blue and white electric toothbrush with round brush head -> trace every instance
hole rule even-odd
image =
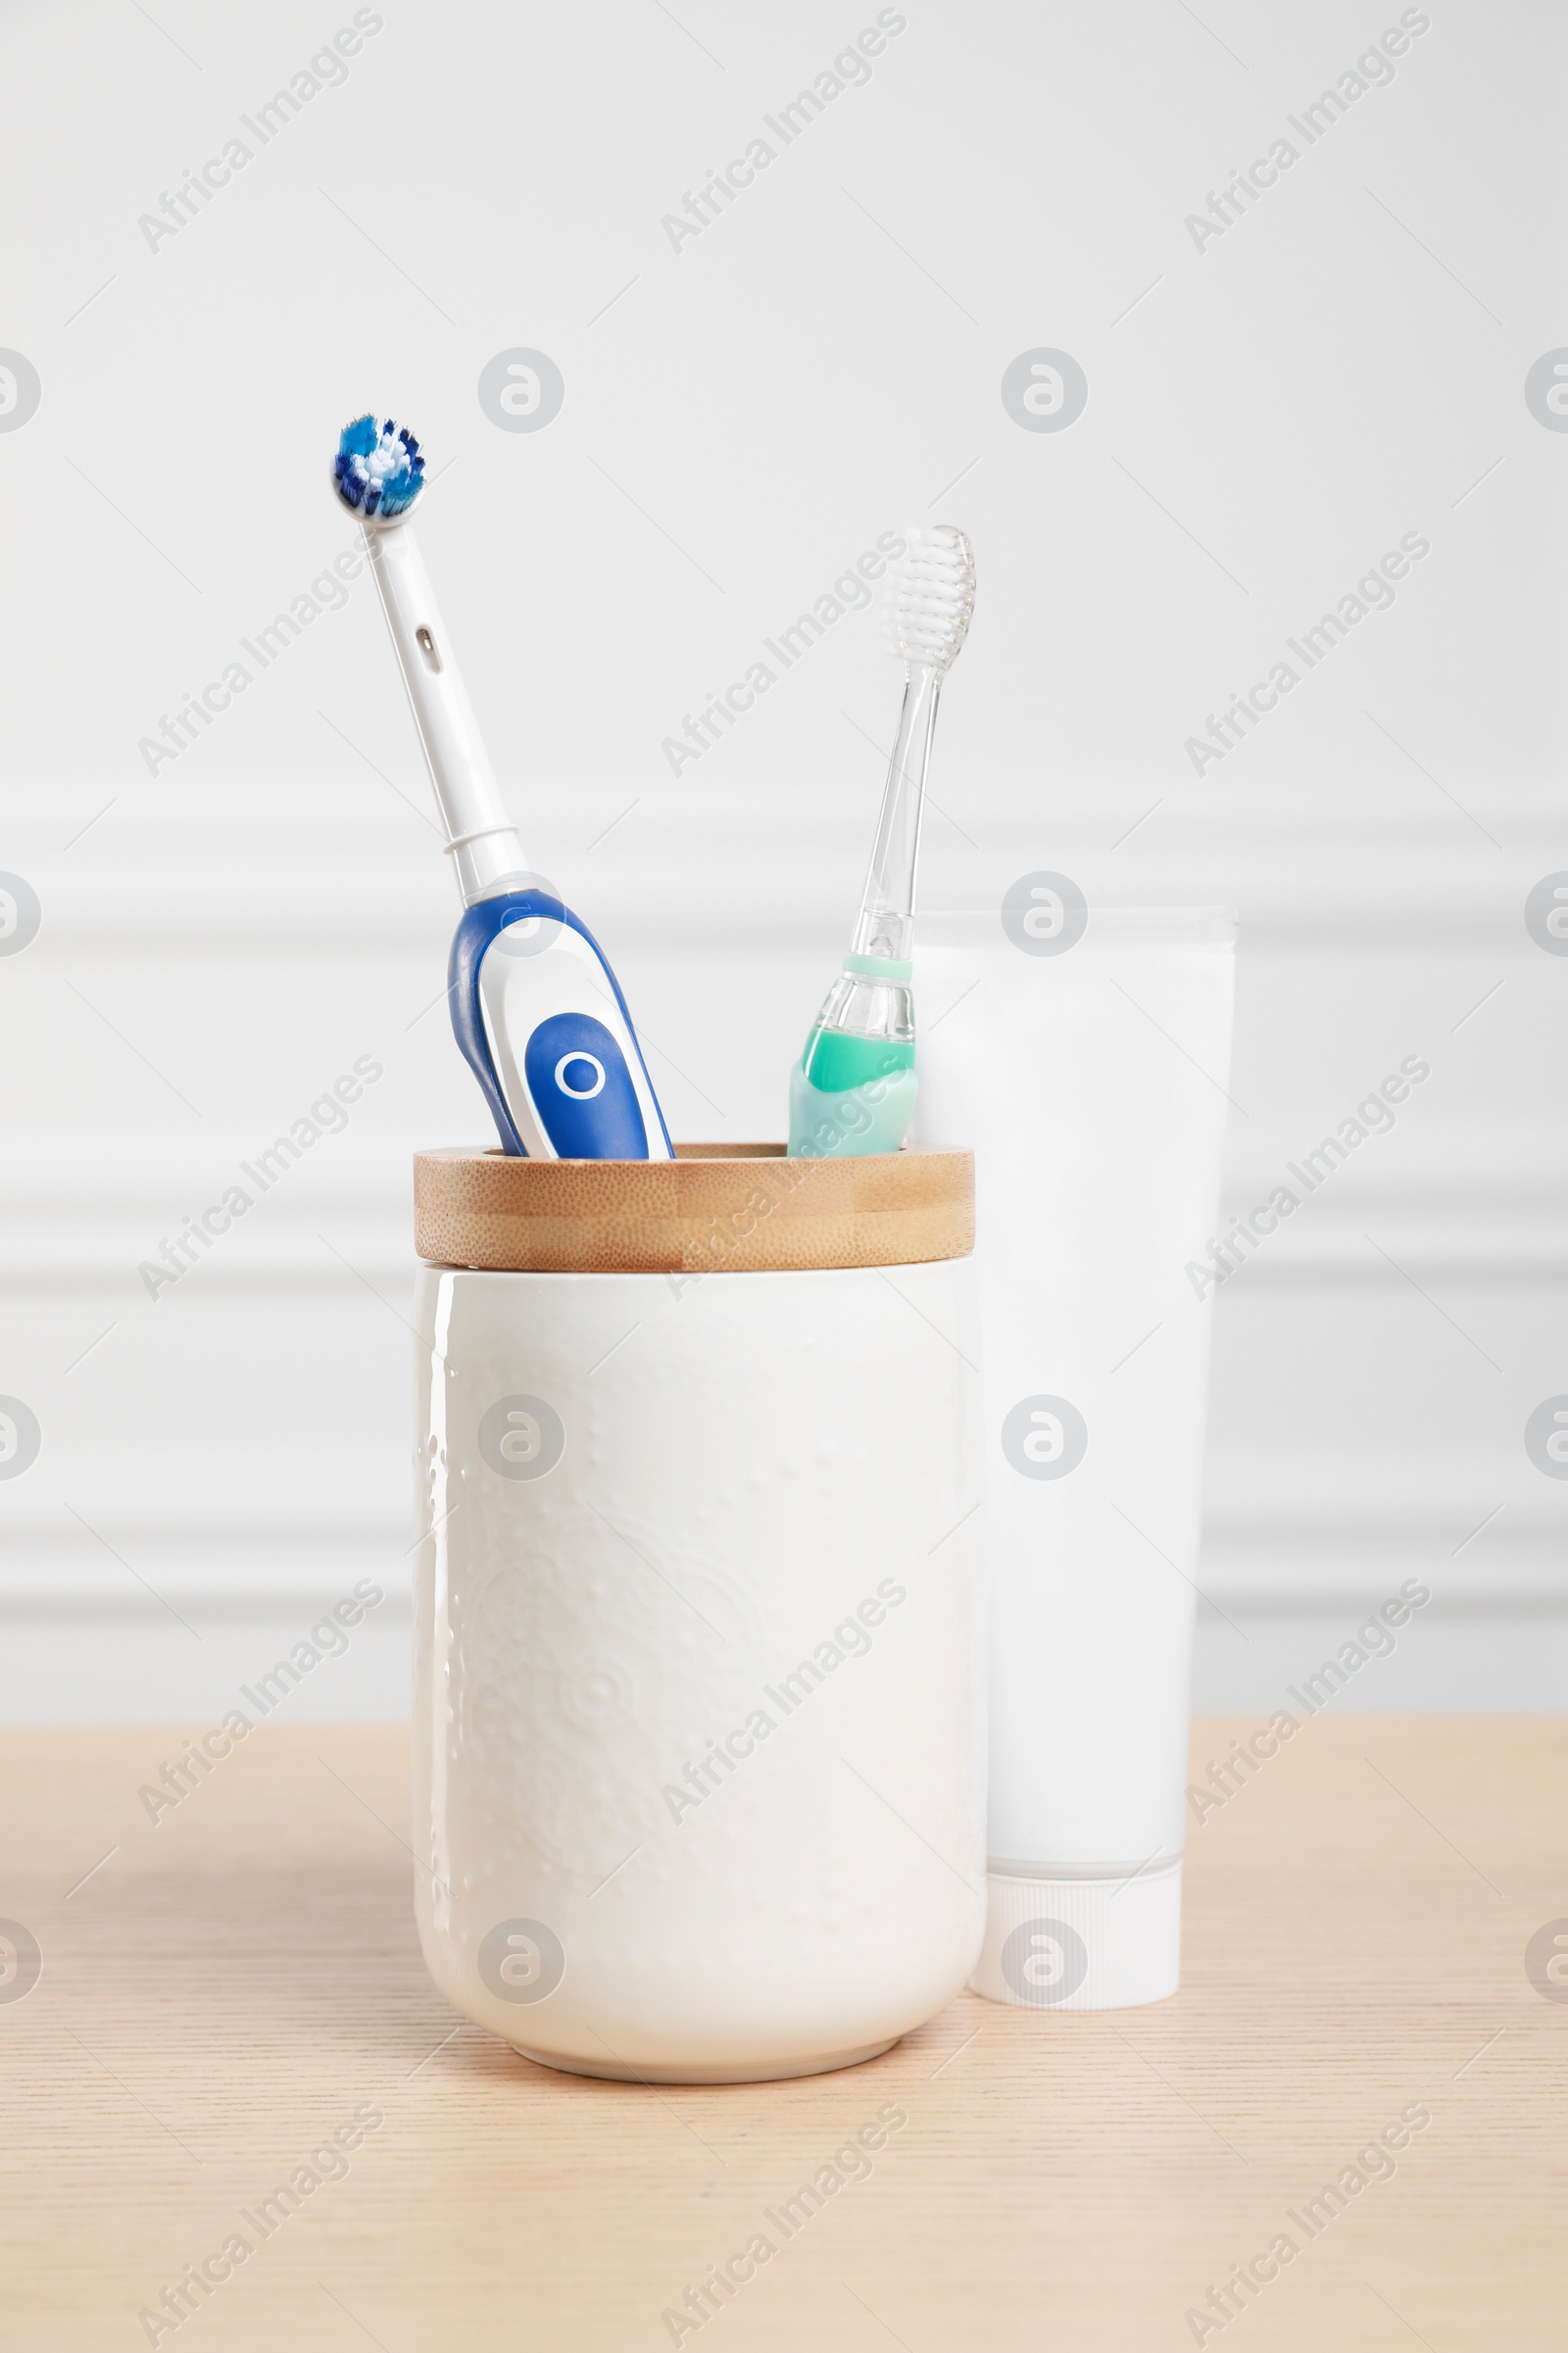
[[[616,974],[583,920],[538,887],[501,807],[407,520],[423,478],[418,442],[390,416],[383,424],[360,416],[343,428],[336,494],[364,525],[465,908],[447,969],[451,1028],[505,1153],[672,1160]]]

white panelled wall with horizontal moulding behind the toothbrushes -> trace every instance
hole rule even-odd
[[[1204,1612],[1199,1704],[1274,1704],[1415,1574],[1432,1607],[1342,1704],[1561,1706],[1568,1482],[1521,1440],[1568,1391],[1568,958],[1523,927],[1568,868],[1568,440],[1523,398],[1568,341],[1561,9],[1406,12],[1392,82],[1307,148],[1286,118],[1399,7],[910,0],[788,151],[762,118],[872,5],[374,14],[266,148],[240,115],[341,0],[0,28],[0,346],[40,379],[0,431],[0,866],[42,906],[0,958],[0,1391],[42,1428],[0,1482],[0,1708],[216,1711],[367,1574],[386,1605],[296,1706],[402,1706],[409,1153],[484,1134],[435,1002],[456,899],[371,588],[240,654],[350,546],[327,464],[371,402],[451,468],[421,536],[496,767],[677,1134],[783,1129],[882,786],[875,614],[679,776],[661,741],[879,532],[966,525],[929,904],[1039,866],[1234,901],[1237,1209],[1432,1064],[1215,1299],[1201,1581],[1246,1640]],[[235,132],[153,249],[139,216]],[[759,132],[776,160],[672,249]],[[1279,136],[1300,160],[1199,249],[1185,216]],[[564,374],[541,433],[480,407],[515,346]],[[1041,346],[1088,376],[1060,433],[999,398]],[[1429,553],[1392,609],[1194,774],[1401,534]],[[235,659],[150,774],[139,739]],[[348,1129],[148,1299],[139,1261],[357,1056]]]

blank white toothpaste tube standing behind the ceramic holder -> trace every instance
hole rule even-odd
[[[1023,875],[922,915],[919,1136],[976,1151],[999,2002],[1180,1981],[1187,1713],[1234,915]],[[1204,1299],[1199,1299],[1204,1292]]]

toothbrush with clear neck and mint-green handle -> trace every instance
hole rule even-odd
[[[914,1118],[914,866],[943,678],[976,609],[976,558],[950,522],[905,532],[884,626],[905,666],[877,842],[839,979],[790,1071],[790,1155],[896,1153]]]

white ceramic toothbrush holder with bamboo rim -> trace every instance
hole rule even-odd
[[[418,1932],[578,2075],[853,2066],[985,1929],[973,1160],[416,1160]]]

